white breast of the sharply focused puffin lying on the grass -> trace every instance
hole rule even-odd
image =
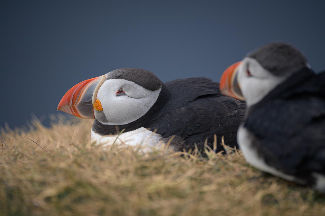
[[[141,149],[149,151],[155,147],[164,145],[162,137],[149,131],[148,129],[141,127],[134,131],[125,132],[118,135],[104,135],[101,136],[91,130],[90,140],[96,145],[102,145],[104,148],[108,146],[123,145],[123,146],[142,146]]]

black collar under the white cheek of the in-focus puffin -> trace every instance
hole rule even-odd
[[[157,118],[157,115],[160,114],[161,109],[165,106],[168,100],[171,97],[171,93],[169,88],[162,83],[162,90],[157,98],[157,101],[154,105],[149,109],[149,111],[142,116],[141,118],[137,119],[136,121],[130,122],[124,125],[107,125],[100,123],[97,119],[95,119],[93,123],[92,130],[95,133],[100,135],[109,135],[109,134],[117,134],[125,129],[123,132],[134,131],[140,127],[146,127],[152,119]]]

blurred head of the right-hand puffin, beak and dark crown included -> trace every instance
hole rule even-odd
[[[220,91],[245,100],[248,106],[252,106],[304,67],[310,66],[304,55],[292,45],[279,42],[266,44],[224,71]]]

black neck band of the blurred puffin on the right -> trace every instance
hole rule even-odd
[[[270,91],[261,101],[249,107],[246,116],[249,116],[254,110],[264,105],[267,101],[274,98],[288,98],[292,96],[292,94],[294,94],[294,91],[291,91],[292,89],[311,79],[313,76],[315,76],[315,72],[307,67],[294,72],[283,83],[280,83]]]

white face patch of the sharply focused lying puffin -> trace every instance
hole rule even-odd
[[[123,88],[126,95],[117,96],[116,92]],[[123,125],[136,121],[144,116],[156,102],[161,88],[150,91],[134,82],[123,79],[106,80],[100,87],[97,99],[103,107],[107,121],[98,119],[102,124]]]

